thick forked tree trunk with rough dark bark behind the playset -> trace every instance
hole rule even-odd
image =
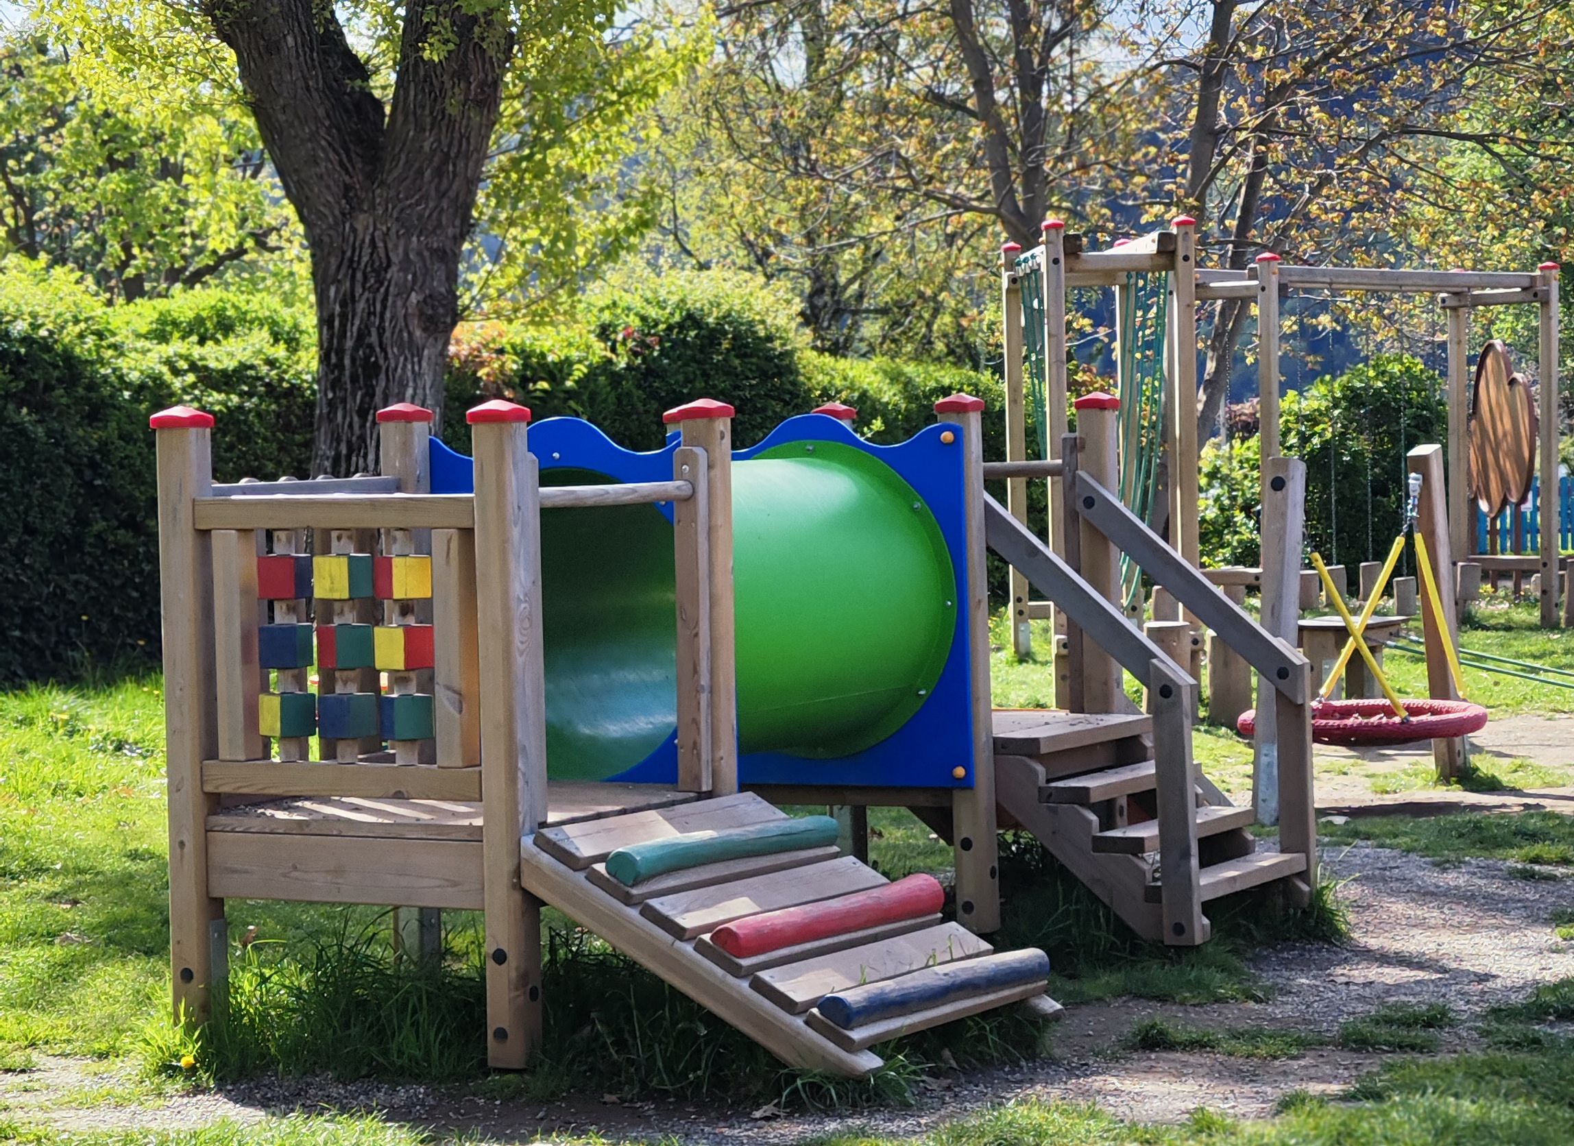
[[[312,252],[313,474],[376,472],[382,406],[442,417],[460,255],[513,54],[504,9],[472,8],[408,0],[384,109],[332,8],[208,0]]]

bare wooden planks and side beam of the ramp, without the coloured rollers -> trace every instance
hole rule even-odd
[[[519,882],[784,1063],[800,1067],[861,1077],[881,1064],[867,1050],[872,1044],[908,1031],[1006,1003],[1034,1001],[1036,1014],[1053,1014],[1055,1004],[1044,998],[1047,984],[1037,982],[1014,992],[949,998],[867,1028],[826,1030],[815,1004],[831,992],[992,954],[988,943],[933,915],[748,960],[732,959],[710,943],[710,933],[726,922],[888,885],[885,875],[833,848],[806,848],[793,853],[790,864],[781,855],[763,855],[658,875],[650,883],[663,886],[652,889],[614,886],[606,874],[606,858],[619,847],[778,819],[784,812],[745,792],[554,825],[524,841]],[[680,889],[672,889],[674,875],[682,877]]]

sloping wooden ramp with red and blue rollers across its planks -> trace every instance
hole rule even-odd
[[[834,847],[729,858],[631,886],[608,872],[619,848],[785,820],[741,793],[548,826],[524,839],[519,882],[798,1067],[861,1077],[881,1066],[869,1050],[877,1042],[998,1006],[1059,1011],[1044,995],[1047,962],[1045,974],[1034,970],[1040,952],[995,956],[941,922],[938,894],[894,885]],[[782,938],[795,929],[807,938]],[[822,1001],[834,1001],[839,1022]]]

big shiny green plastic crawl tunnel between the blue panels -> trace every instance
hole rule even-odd
[[[878,458],[825,441],[738,461],[732,496],[741,751],[828,759],[885,740],[951,647],[933,515]],[[653,505],[552,510],[541,549],[551,774],[619,776],[677,721],[672,526]]]

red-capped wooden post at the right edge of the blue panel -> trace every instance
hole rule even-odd
[[[988,567],[984,542],[984,400],[954,394],[935,403],[955,427],[966,497],[968,667],[973,693],[973,787],[952,789],[957,921],[973,932],[999,929],[999,836],[995,826],[995,705],[988,678]],[[946,441],[941,434],[941,441]],[[960,604],[962,601],[959,601]]]

